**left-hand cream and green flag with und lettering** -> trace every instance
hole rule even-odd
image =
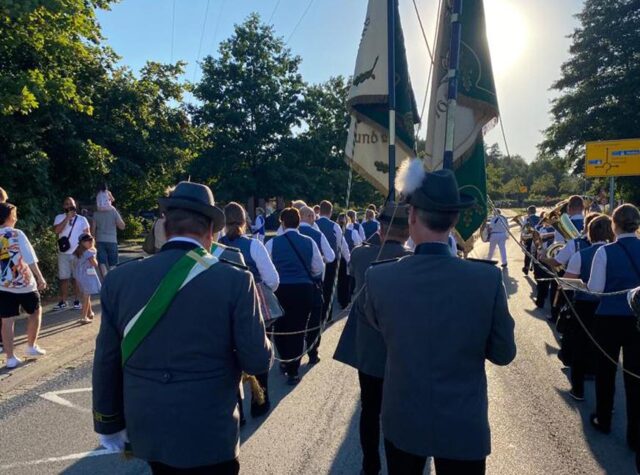
[[[349,91],[351,126],[347,162],[381,193],[389,192],[389,84],[387,1],[369,0]],[[414,124],[420,119],[411,88],[400,24],[395,12],[396,163],[415,155]]]

